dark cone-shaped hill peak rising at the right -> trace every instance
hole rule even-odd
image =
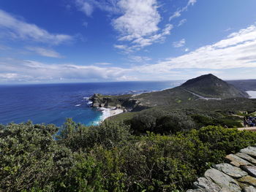
[[[213,74],[205,74],[192,80],[188,80],[187,82],[184,82],[180,88],[207,98],[227,99],[249,97],[245,91],[228,84]]]

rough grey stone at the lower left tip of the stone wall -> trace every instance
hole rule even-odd
[[[194,185],[196,188],[206,190],[207,192],[219,192],[221,190],[219,185],[213,183],[211,180],[207,180],[205,177],[198,178]]]

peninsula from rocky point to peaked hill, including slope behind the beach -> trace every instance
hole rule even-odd
[[[229,82],[219,79],[213,74],[205,74],[191,80],[187,80],[176,88],[151,93],[127,94],[121,96],[105,96],[95,93],[91,96],[92,107],[103,107],[100,109],[112,110],[109,115],[115,117],[110,120],[132,120],[136,115],[153,110],[198,110],[200,113],[211,112],[212,114],[225,118],[228,114],[240,114],[241,112],[254,112],[256,110],[256,99],[249,99],[246,90],[242,90]],[[115,113],[114,113],[115,112]],[[120,114],[125,112],[125,114]],[[223,118],[223,117],[222,117]],[[222,123],[222,126],[241,126],[240,120],[236,119],[234,125]]]

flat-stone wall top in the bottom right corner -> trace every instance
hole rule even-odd
[[[217,164],[187,192],[256,192],[256,145],[226,156],[228,164]]]

